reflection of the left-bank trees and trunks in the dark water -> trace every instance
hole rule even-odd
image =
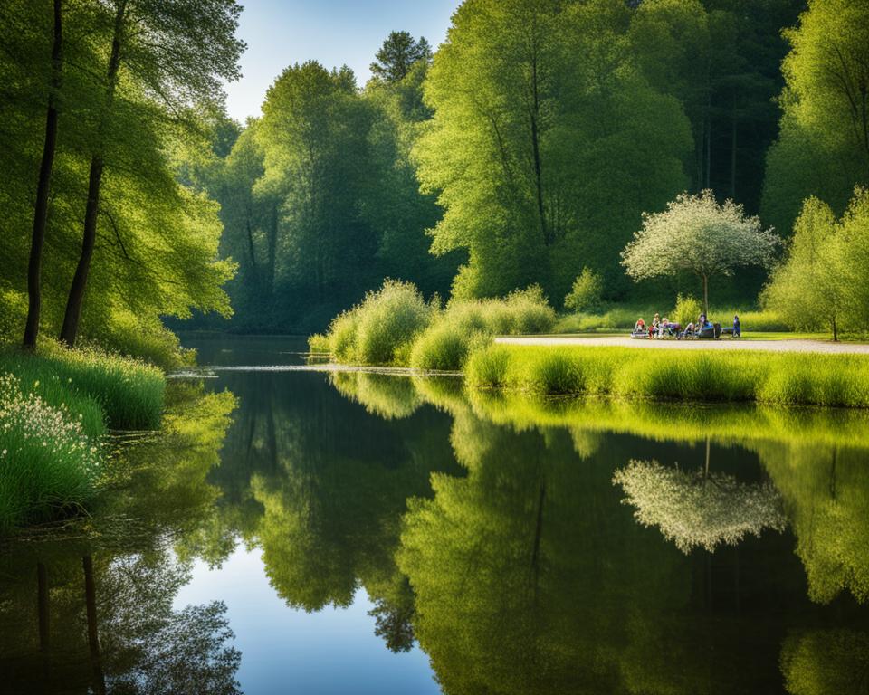
[[[173,608],[189,576],[234,399],[175,392],[165,432],[120,443],[91,519],[7,540],[0,573],[5,692],[234,693],[240,653],[220,602]]]

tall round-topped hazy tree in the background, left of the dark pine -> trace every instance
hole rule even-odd
[[[370,123],[347,67],[294,65],[266,95],[256,191],[281,200],[284,302],[355,299],[371,278],[376,239],[359,214]]]

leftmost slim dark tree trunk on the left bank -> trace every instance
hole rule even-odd
[[[39,335],[39,312],[42,304],[43,245],[48,224],[48,197],[52,187],[54,150],[57,148],[57,91],[61,87],[63,70],[62,0],[54,0],[54,41],[52,44],[52,81],[48,92],[48,111],[45,116],[43,160],[39,166],[36,184],[36,205],[33,209],[33,238],[30,243],[30,261],[27,264],[27,322],[24,326],[24,348],[35,348]]]

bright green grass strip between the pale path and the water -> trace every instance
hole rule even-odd
[[[543,395],[869,407],[860,355],[497,345],[472,354],[466,378]]]

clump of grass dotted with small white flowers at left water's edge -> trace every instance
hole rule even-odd
[[[101,446],[81,414],[0,376],[0,531],[80,506],[100,473]]]

